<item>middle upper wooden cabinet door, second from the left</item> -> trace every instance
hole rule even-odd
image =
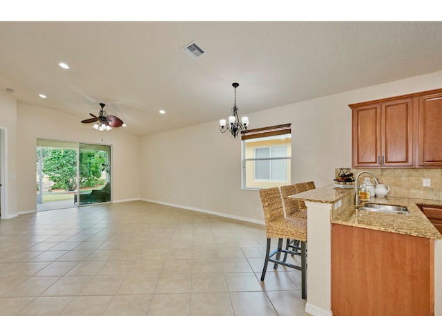
[[[381,165],[413,165],[413,99],[382,104]]]

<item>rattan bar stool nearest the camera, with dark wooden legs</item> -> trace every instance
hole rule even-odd
[[[278,265],[294,268],[301,271],[301,296],[307,299],[307,219],[296,217],[285,217],[282,197],[278,187],[260,189],[262,209],[265,217],[265,232],[267,236],[267,249],[265,254],[264,268],[262,269],[261,281],[265,279],[267,264],[275,263],[273,269]],[[270,252],[271,239],[278,239],[278,248]],[[300,241],[300,252],[294,252],[282,248],[283,239],[295,239]],[[281,254],[294,254],[300,256],[301,265],[296,266],[280,260]]]

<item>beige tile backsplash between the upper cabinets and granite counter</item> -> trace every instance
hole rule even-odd
[[[354,176],[364,170],[372,172],[379,182],[390,185],[388,196],[442,200],[442,169],[351,169]],[[335,175],[338,173],[339,168],[335,170]],[[363,183],[368,176],[361,175],[359,183]],[[423,179],[430,179],[431,186],[424,187]]]

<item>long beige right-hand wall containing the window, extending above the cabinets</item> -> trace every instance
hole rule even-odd
[[[441,87],[437,72],[242,115],[253,129],[291,123],[291,182],[321,187],[336,167],[352,165],[348,104]],[[142,198],[262,222],[258,192],[241,189],[240,140],[220,133],[218,122],[145,136],[141,157]]]

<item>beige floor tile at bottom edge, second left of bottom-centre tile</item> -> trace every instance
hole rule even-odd
[[[152,295],[115,295],[103,316],[146,316]]]

